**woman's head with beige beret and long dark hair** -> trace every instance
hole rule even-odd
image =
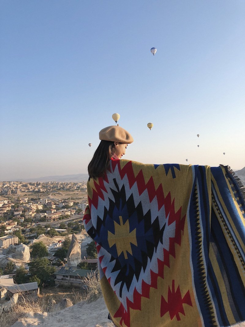
[[[108,126],[99,132],[101,140],[88,166],[90,178],[104,177],[111,159],[121,159],[128,144],[134,141],[131,134],[120,126]]]

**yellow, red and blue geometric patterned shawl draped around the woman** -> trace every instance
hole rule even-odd
[[[245,320],[245,202],[229,167],[111,160],[90,179],[96,242],[116,326],[230,326]]]

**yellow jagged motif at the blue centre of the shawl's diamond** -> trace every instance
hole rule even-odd
[[[108,231],[108,243],[110,248],[116,244],[118,256],[123,252],[124,258],[127,259],[127,252],[132,254],[130,243],[137,246],[136,228],[129,232],[129,221],[127,220],[123,225],[122,216],[119,216],[119,222],[120,224],[114,221],[115,234]]]

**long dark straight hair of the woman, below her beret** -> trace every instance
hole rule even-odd
[[[115,152],[114,142],[102,140],[88,165],[89,176],[91,178],[103,177]]]

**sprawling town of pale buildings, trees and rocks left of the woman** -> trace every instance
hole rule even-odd
[[[45,297],[45,290],[50,293],[51,289],[56,299],[55,293],[62,293],[63,288],[70,297],[55,305],[69,306],[76,302],[74,289],[79,290],[81,300],[87,290],[85,280],[91,274],[97,275],[95,243],[82,221],[87,206],[86,184],[46,183],[45,194],[48,187],[52,192],[70,184],[65,185],[63,199],[54,195],[40,197],[38,183],[20,184],[2,183],[2,193],[7,189],[8,194],[0,198],[0,306],[10,310],[26,299]],[[78,201],[70,196],[71,184],[76,184],[72,187],[82,194],[74,194]],[[34,187],[29,192],[36,192],[36,197],[21,196],[29,186]],[[18,187],[20,191],[16,191]],[[67,194],[70,197],[64,198]]]

